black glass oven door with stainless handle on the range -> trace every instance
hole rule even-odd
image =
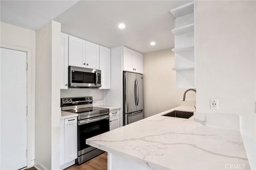
[[[78,156],[94,150],[86,139],[109,131],[109,115],[78,121]]]

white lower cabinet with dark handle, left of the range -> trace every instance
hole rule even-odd
[[[60,120],[60,165],[74,164],[77,158],[77,117]],[[61,166],[66,168],[65,166]]]

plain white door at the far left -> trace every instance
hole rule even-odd
[[[27,166],[26,52],[0,48],[0,169]]]

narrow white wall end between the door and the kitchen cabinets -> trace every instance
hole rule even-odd
[[[36,31],[35,163],[60,169],[60,23]]]

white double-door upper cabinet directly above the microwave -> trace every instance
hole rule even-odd
[[[99,45],[69,36],[68,65],[99,69]]]

